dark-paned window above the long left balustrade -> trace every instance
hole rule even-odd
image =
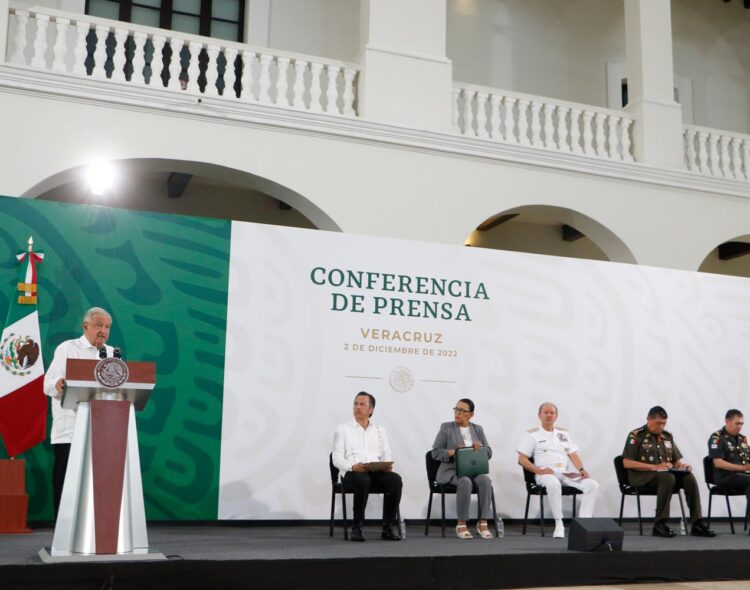
[[[86,14],[112,20],[242,41],[244,0],[86,0]]]

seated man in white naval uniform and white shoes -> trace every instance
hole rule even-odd
[[[570,486],[583,492],[580,516],[590,518],[594,514],[599,484],[583,468],[578,447],[570,433],[562,428],[555,428],[557,406],[549,402],[539,406],[539,421],[541,426],[529,430],[518,445],[518,463],[533,472],[536,483],[546,488],[552,517],[555,519],[555,532],[552,536],[564,539],[562,486]],[[529,458],[533,458],[534,462]]]

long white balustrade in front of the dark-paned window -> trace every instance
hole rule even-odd
[[[11,6],[8,37],[13,65],[357,116],[355,64],[39,7]]]

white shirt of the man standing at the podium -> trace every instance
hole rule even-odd
[[[112,356],[114,349],[107,346],[107,356]],[[66,340],[55,349],[55,356],[44,375],[44,393],[52,398],[52,444],[70,443],[73,441],[73,428],[76,423],[74,410],[66,410],[60,405],[62,394],[57,393],[55,384],[65,379],[65,363],[68,359],[99,358],[99,350],[91,344],[86,336],[75,340]]]

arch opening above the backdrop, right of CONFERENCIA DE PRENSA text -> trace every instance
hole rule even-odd
[[[492,215],[467,246],[589,260],[636,263],[628,246],[598,221],[572,209],[524,205]]]

